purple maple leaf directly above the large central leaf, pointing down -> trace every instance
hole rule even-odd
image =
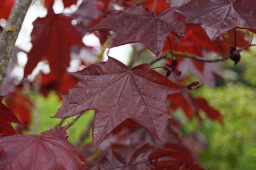
[[[141,42],[156,56],[159,55],[166,37],[170,32],[185,36],[185,23],[182,15],[175,12],[175,7],[163,10],[158,16],[143,6],[126,7],[102,18],[100,23],[91,28],[110,29],[109,48],[123,44]]]

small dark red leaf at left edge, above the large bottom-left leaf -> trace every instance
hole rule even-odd
[[[14,110],[2,104],[2,99],[3,97],[0,96],[0,134],[3,134],[3,136],[17,134],[14,128],[12,128],[12,125],[10,125],[10,122],[19,123],[19,124],[22,124],[22,123],[20,122],[20,120],[18,120],[18,118],[14,114]]]

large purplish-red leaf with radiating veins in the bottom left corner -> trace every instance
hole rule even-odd
[[[82,152],[67,141],[66,127],[0,139],[0,169],[87,169]],[[61,156],[60,156],[61,155]]]

